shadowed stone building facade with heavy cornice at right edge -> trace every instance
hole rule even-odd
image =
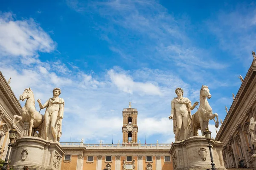
[[[256,167],[253,156],[256,147],[252,143],[255,130],[250,128],[250,119],[256,120],[256,57],[241,81],[241,87],[215,138],[224,142],[222,155],[226,168]]]

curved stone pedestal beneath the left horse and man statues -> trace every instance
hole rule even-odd
[[[16,140],[10,160],[15,170],[21,170],[25,165],[33,170],[60,170],[64,154],[58,142],[26,136]]]

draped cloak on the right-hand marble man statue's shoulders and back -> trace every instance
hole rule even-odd
[[[185,140],[187,139],[188,137],[192,136],[192,125],[191,125],[191,120],[192,120],[192,116],[191,116],[191,110],[190,108],[188,107],[187,104],[191,103],[191,101],[187,98],[187,97],[183,97],[183,98],[177,98],[175,97],[174,99],[172,100],[176,100],[178,103],[180,104],[186,104],[186,108],[187,108],[187,111],[188,111],[188,114],[189,114],[189,120],[188,120],[188,128],[189,128],[189,132],[188,132],[188,136],[184,136],[184,135],[180,135],[180,140]],[[179,134],[176,134],[176,129],[177,129],[177,116],[176,116],[176,110],[174,108],[174,115],[173,115],[173,133],[175,134],[175,138],[176,136],[179,136]],[[180,134],[184,134],[184,127],[183,125],[181,126],[181,129],[180,129]]]

